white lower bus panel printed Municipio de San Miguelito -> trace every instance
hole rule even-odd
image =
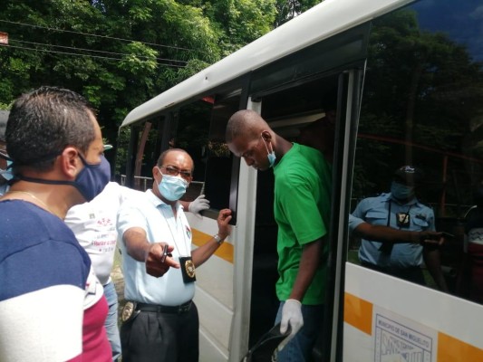
[[[483,360],[483,306],[352,263],[345,272],[344,362]]]

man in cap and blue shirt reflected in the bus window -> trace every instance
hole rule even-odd
[[[373,225],[391,226],[405,231],[435,231],[434,213],[416,198],[414,190],[421,171],[411,166],[394,173],[391,192],[363,199],[353,216]],[[441,291],[448,291],[440,268],[440,251],[415,243],[381,243],[362,239],[359,259],[363,266],[398,278],[425,285],[421,270],[423,261]]]

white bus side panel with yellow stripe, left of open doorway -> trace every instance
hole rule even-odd
[[[246,354],[250,328],[256,170],[240,167],[237,226],[217,252],[197,269],[199,361],[238,361]],[[193,246],[217,233],[217,221],[187,214]]]

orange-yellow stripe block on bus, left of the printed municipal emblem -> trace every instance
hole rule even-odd
[[[362,332],[372,335],[372,303],[345,292],[343,321]]]

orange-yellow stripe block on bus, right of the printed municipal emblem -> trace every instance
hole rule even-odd
[[[483,349],[471,346],[457,338],[438,333],[438,362],[483,361]]]

